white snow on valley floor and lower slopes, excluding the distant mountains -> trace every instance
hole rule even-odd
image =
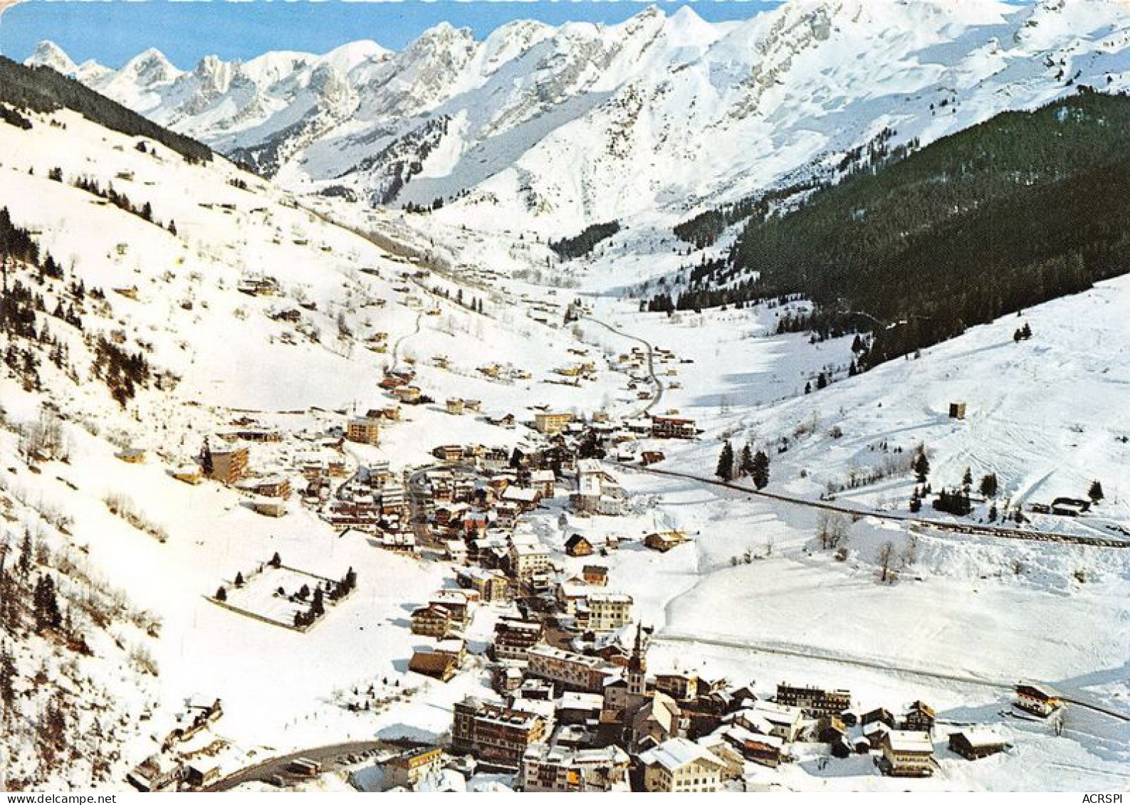
[[[286,517],[260,516],[245,505],[247,496],[212,482],[182,483],[169,471],[191,461],[206,435],[249,415],[288,432],[279,444],[252,447],[253,470],[285,471],[301,483],[297,456],[333,453],[333,428],[354,413],[391,404],[377,382],[385,367],[408,359],[415,361],[415,382],[434,402],[403,406],[402,421],[384,429],[379,447],[349,445],[334,453],[348,470],[386,460],[399,472],[431,463],[431,449],[442,444],[532,443],[534,435],[521,422],[532,419],[536,405],[616,415],[645,405],[627,392],[638,369],[617,359],[640,339],[676,356],[655,361],[663,385],[657,412],[679,410],[703,432],[693,441],[642,440],[634,447],[663,450],[660,469],[709,479],[723,439],[749,443],[771,455],[767,491],[799,499],[773,501],[614,466],[631,495],[631,514],[576,518],[564,511],[562,497],[527,518],[571,571],[588,563],[562,553],[572,533],[621,537],[621,546],[599,561],[610,568],[609,589],[631,594],[636,616],[655,629],[652,670],[689,667],[751,680],[759,694],[785,680],[845,686],[861,705],[890,709],[923,698],[954,723],[1003,723],[1016,745],[1007,756],[975,764],[942,752],[942,773],[921,784],[893,786],[862,761],[825,769],[815,759],[766,771],[766,781],[834,790],[1124,786],[1127,721],[1071,706],[1064,734],[1055,736],[1001,711],[1019,676],[1049,682],[1080,701],[1130,708],[1130,551],[912,531],[863,516],[850,526],[837,559],[820,549],[818,516],[806,504],[880,463],[892,448],[924,444],[936,488],[958,483],[965,467],[977,479],[996,472],[1001,502],[1027,507],[1054,496],[1081,497],[1101,479],[1105,499],[1087,516],[1037,515],[1029,525],[1116,536],[1111,526],[1130,519],[1127,279],[1026,310],[1020,320],[973,329],[919,359],[847,378],[849,341],[811,344],[776,335],[775,310],[642,314],[638,300],[623,292],[646,278],[642,265],[621,277],[615,260],[593,263],[572,294],[513,275],[538,265],[544,248],[454,226],[429,230],[427,220],[388,213],[377,227],[386,235],[497,269],[493,285],[460,286],[464,297],[485,300],[484,313],[475,313],[425,290],[423,280],[405,280],[408,264],[295,207],[285,193],[258,187],[258,180],[249,180],[254,193],[229,184],[238,174],[228,165],[189,166],[163,149],[141,154],[130,138],[67,113],[59,120],[66,131],[37,124],[34,137],[0,125],[0,205],[12,210],[17,224],[34,226],[44,247],[88,287],[105,290],[104,304],[85,313],[86,330],[121,331],[125,343],[146,349],[148,360],[175,382],[139,391],[123,409],[89,378],[82,333],[53,324],[81,368],[79,379],[44,361],[42,390],[6,378],[0,391],[11,422],[35,421],[51,400],[69,460],[42,462],[33,471],[7,430],[0,456],[6,495],[23,501],[21,517],[32,522],[31,511],[38,509],[70,518],[69,533],[45,531],[52,549],[81,558],[92,574],[112,579],[131,605],[160,621],[156,636],[122,629],[116,648],[103,636],[95,657],[82,660],[123,711],[164,716],[186,700],[221,699],[225,715],[214,732],[231,744],[225,763],[232,767],[353,738],[443,735],[452,703],[486,690],[485,663],[475,655],[498,614],[487,607],[476,614],[468,635],[472,656],[450,683],[410,674],[412,651],[433,641],[409,632],[409,615],[452,585],[450,566],[382,551],[357,532],[338,535],[297,501]],[[175,220],[177,235],[47,180],[56,165],[68,178],[92,174],[129,187],[137,200],[151,201],[160,221]],[[119,174],[133,178],[116,180]],[[193,193],[174,190],[182,186]],[[320,209],[334,212],[332,204]],[[340,213],[353,224],[356,216]],[[237,290],[259,273],[273,277],[279,291]],[[454,288],[459,275],[449,261],[442,278],[428,281]],[[51,285],[43,292],[50,309],[59,292]],[[537,307],[565,305],[573,296],[589,305],[593,321],[566,325],[563,312],[546,323],[532,318]],[[296,323],[276,316],[292,309],[298,310]],[[1019,321],[1034,335],[1015,343]],[[383,353],[365,345],[377,333],[389,345]],[[591,379],[562,384],[554,369],[582,359],[594,364]],[[492,380],[478,371],[486,364],[521,367],[529,377]],[[834,382],[803,394],[819,371],[831,371]],[[452,396],[480,400],[481,413],[446,413],[442,406]],[[954,401],[967,403],[964,420],[948,418]],[[486,421],[504,413],[520,425]],[[785,452],[782,438],[789,440]],[[883,444],[887,453],[878,448]],[[123,447],[146,449],[147,461],[121,461],[115,456]],[[905,511],[912,487],[912,476],[901,472],[833,495],[883,514]],[[167,541],[112,514],[112,496],[129,496]],[[985,516],[983,508],[976,516]],[[643,546],[645,534],[669,528],[692,540],[664,554]],[[881,580],[879,567],[887,543],[893,583]],[[305,633],[209,601],[218,585],[233,583],[240,571],[247,577],[276,552],[287,567],[327,578],[351,567],[358,588],[328,606]],[[238,592],[229,588],[229,603],[293,619],[290,604],[272,590],[289,592],[298,579],[279,575],[264,572]],[[27,676],[42,663],[52,665],[51,674],[64,674],[62,664],[44,659],[54,657],[46,647],[29,645],[18,660]],[[136,645],[151,655],[156,675],[114,665]],[[342,707],[344,691],[371,684],[389,699],[385,707]],[[137,726],[123,738],[119,765],[151,754],[160,737],[156,726]]]

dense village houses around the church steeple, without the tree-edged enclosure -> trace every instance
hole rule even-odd
[[[467,403],[449,400],[447,410],[461,413]],[[537,411],[532,425],[544,439],[525,452],[442,445],[434,452],[436,467],[399,474],[388,462],[363,461],[348,475],[340,440],[376,445],[391,418],[371,411],[351,419],[338,449],[332,440],[322,445],[329,460],[296,460],[307,484],[304,502],[337,527],[374,534],[389,550],[426,544],[453,562],[454,585],[411,612],[412,633],[427,642],[414,651],[410,672],[450,681],[480,650],[466,637],[477,610],[489,606],[497,616],[485,656],[476,660],[488,663],[494,695],[454,706],[450,746],[414,750],[385,763],[386,787],[418,789],[453,769],[481,769],[512,775],[515,786],[529,791],[712,793],[740,789],[753,767],[775,768],[811,754],[808,747],[798,751],[800,744],[825,745],[817,750],[824,756],[868,755],[881,773],[895,777],[938,771],[939,730],[924,702],[901,715],[885,708],[861,712],[845,690],[782,683],[760,699],[751,684],[649,673],[650,633],[638,624],[634,633],[631,629],[632,596],[609,587],[599,559],[581,572],[564,572],[554,551],[521,522],[563,488],[575,514],[625,514],[628,496],[615,472],[583,456],[583,445],[615,446],[623,426]],[[693,438],[695,432],[693,421],[664,414],[650,418],[638,435]],[[246,445],[277,440],[275,432],[243,423],[232,440],[238,444],[209,449],[209,460],[198,464],[201,471],[257,497],[292,495],[285,475],[253,478],[249,471]],[[658,531],[644,542],[669,551],[687,539],[679,531]],[[563,550],[586,558],[617,546],[614,537],[573,534]],[[1017,688],[1017,707],[1027,712],[1048,716],[1061,706],[1045,686]],[[988,726],[947,727],[946,738],[951,753],[970,760],[1009,746]],[[154,779],[164,779],[158,771]],[[182,768],[176,779],[183,775]]]

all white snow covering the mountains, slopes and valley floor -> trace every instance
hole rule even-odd
[[[560,497],[527,517],[523,528],[568,571],[593,561],[564,555],[572,533],[621,537],[600,561],[610,568],[610,589],[631,594],[635,615],[655,628],[652,671],[751,680],[760,695],[785,680],[844,686],[860,707],[893,710],[921,698],[954,724],[1003,724],[1014,743],[976,763],[939,744],[940,772],[924,781],[879,777],[868,758],[824,767],[802,750],[797,763],[751,771],[755,782],[829,790],[1124,787],[1125,721],[1070,706],[1057,736],[1049,725],[1001,714],[1022,676],[1079,701],[1130,709],[1130,551],[912,532],[883,515],[905,513],[914,481],[901,462],[923,444],[936,489],[959,483],[966,467],[974,484],[994,472],[1001,508],[1084,497],[1101,479],[1105,499],[1086,516],[1031,515],[1026,527],[1127,537],[1130,280],[973,327],[920,358],[850,378],[850,340],[776,335],[781,307],[667,317],[640,313],[635,297],[683,260],[664,222],[764,187],[884,125],[925,141],[1000,108],[1042,103],[1072,91],[1055,78],[1061,61],[1068,77],[1084,71],[1078,82],[1105,85],[1110,75],[1123,86],[1123,10],[1105,0],[1024,8],[792,0],[739,24],[649,10],[611,27],[513,24],[481,43],[440,26],[394,54],[363,43],[238,65],[205,60],[193,72],[146,53],[108,73],[38,49],[38,63],[95,76],[84,80],[218,147],[262,143],[310,115],[321,126],[316,137],[288,141],[278,182],[269,183],[223,159],[191,166],[151,143],[142,154],[136,139],[66,112],[54,115],[59,125],[35,116],[33,132],[0,124],[0,207],[34,229],[71,277],[105,291],[104,304],[84,312],[85,331],[119,331],[176,378],[120,406],[90,377],[82,335],[50,320],[78,379],[44,360],[42,391],[23,388],[8,373],[0,380],[9,420],[35,420],[50,401],[71,443],[69,463],[33,472],[16,436],[3,431],[0,456],[14,467],[8,491],[66,511],[73,527],[51,537],[56,545],[81,552],[163,622],[158,637],[130,633],[127,641],[151,650],[156,677],[129,670],[114,679],[122,649],[108,640],[84,660],[92,675],[113,679],[107,685],[124,708],[157,714],[155,726],[122,736],[115,771],[155,751],[156,724],[186,699],[224,700],[215,730],[229,742],[224,762],[234,769],[351,738],[436,738],[450,727],[453,701],[484,692],[477,657],[447,684],[407,672],[412,649],[429,642],[410,635],[408,615],[452,584],[445,562],[398,557],[356,533],[339,536],[294,500],[289,515],[271,519],[235,490],[172,479],[168,470],[190,461],[206,436],[238,415],[285,430],[278,446],[252,446],[253,469],[263,474],[293,473],[307,453],[339,456],[325,445],[329,429],[388,404],[376,386],[382,369],[412,359],[416,383],[438,404],[406,406],[406,421],[388,427],[380,447],[347,444],[350,466],[388,460],[400,471],[431,463],[440,444],[513,447],[536,437],[523,426],[450,415],[443,401],[481,400],[484,414],[519,420],[539,404],[627,417],[647,401],[627,387],[640,370],[618,357],[642,339],[676,353],[657,360],[664,390],[654,412],[693,417],[702,434],[642,439],[631,445],[636,455],[659,449],[659,469],[710,479],[724,439],[748,443],[771,455],[768,491],[802,502],[831,495],[873,515],[850,526],[841,561],[819,548],[819,515],[808,506],[621,466],[614,472],[631,495],[628,515],[576,517]],[[929,105],[944,98],[931,114]],[[340,183],[338,174],[424,115],[451,120],[401,200],[470,190],[467,198],[414,216],[295,194]],[[395,121],[394,130],[381,130],[377,119]],[[53,167],[63,183],[47,178]],[[81,175],[150,202],[158,222],[175,221],[176,235],[70,186]],[[372,175],[355,172],[341,182],[365,191]],[[249,189],[234,186],[236,178]],[[547,236],[616,217],[629,218],[629,228],[591,260],[547,270]],[[406,280],[418,265],[333,220],[444,270]],[[280,292],[238,292],[253,274],[275,278]],[[53,282],[38,288],[49,310],[60,296]],[[485,314],[421,286],[483,299]],[[136,299],[114,290],[133,288]],[[559,306],[574,298],[591,318],[564,326]],[[299,324],[271,317],[289,309],[299,312]],[[1011,335],[1022,323],[1033,338],[1017,343]],[[366,349],[377,333],[390,344],[384,353]],[[553,369],[577,362],[579,352],[597,369],[564,385]],[[530,376],[492,380],[477,371],[485,364]],[[803,394],[820,371],[833,383]],[[964,420],[947,415],[957,401],[967,404]],[[779,452],[783,438],[789,449]],[[124,446],[146,449],[148,461],[121,462],[115,453]],[[841,489],[877,467],[885,470],[877,482]],[[107,493],[132,497],[167,542],[113,516]],[[988,518],[989,504],[977,502],[974,519]],[[19,508],[28,522],[32,508]],[[693,539],[669,553],[646,550],[643,536],[659,528]],[[878,568],[888,542],[892,584],[879,580]],[[276,551],[288,566],[332,578],[353,567],[359,589],[305,633],[208,600]],[[479,610],[468,636],[472,653],[497,614]],[[20,667],[36,667],[45,651],[29,641]],[[386,709],[340,706],[338,693],[370,684],[393,699]]]

